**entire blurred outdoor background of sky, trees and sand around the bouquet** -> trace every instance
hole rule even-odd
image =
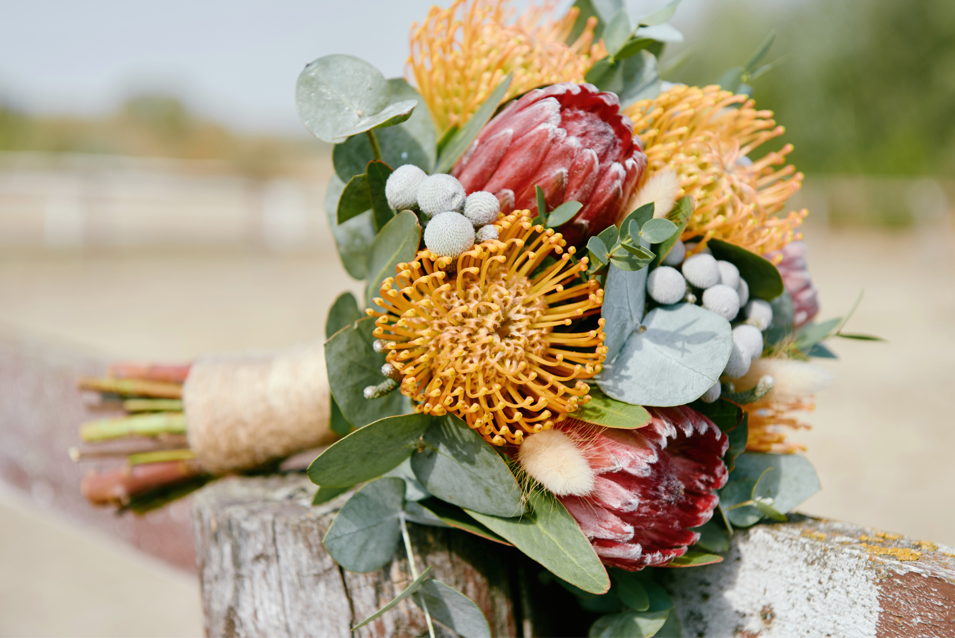
[[[52,394],[23,379],[38,360],[323,334],[360,285],[330,239],[330,147],[299,124],[295,78],[328,53],[403,74],[432,3],[2,4],[0,566],[20,577],[0,584],[0,635],[200,635],[191,548],[162,538],[188,529],[188,504],[149,515],[157,538],[87,511],[62,467],[74,431],[31,421],[26,403]],[[775,30],[779,64],[750,83],[806,175],[792,207],[811,211],[820,318],[864,289],[848,329],[888,339],[833,343],[821,363],[837,380],[792,436],[823,484],[802,511],[955,544],[955,3],[685,0],[672,23],[687,38],[664,76],[701,85]]]

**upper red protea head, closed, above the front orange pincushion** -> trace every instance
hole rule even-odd
[[[646,167],[643,145],[617,96],[592,84],[561,82],[511,102],[451,174],[468,194],[494,193],[505,214],[535,210],[536,185],[548,211],[563,202],[583,203],[561,226],[568,245],[579,245],[623,218]]]

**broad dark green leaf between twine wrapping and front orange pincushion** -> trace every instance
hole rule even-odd
[[[401,412],[401,393],[395,391],[376,399],[367,399],[363,393],[365,388],[378,385],[385,378],[381,373],[385,353],[371,348],[372,330],[374,319],[365,317],[338,330],[325,343],[331,395],[342,415],[356,428]]]

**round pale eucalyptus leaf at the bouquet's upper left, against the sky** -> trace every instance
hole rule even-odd
[[[308,64],[295,87],[302,123],[316,138],[332,143],[363,119],[380,113],[390,96],[381,72],[363,59],[339,53]]]

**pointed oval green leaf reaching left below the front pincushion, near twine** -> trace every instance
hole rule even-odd
[[[332,443],[313,460],[308,466],[308,478],[323,487],[347,487],[380,477],[411,456],[434,418],[387,416],[359,428]],[[401,490],[403,497],[404,487]]]

